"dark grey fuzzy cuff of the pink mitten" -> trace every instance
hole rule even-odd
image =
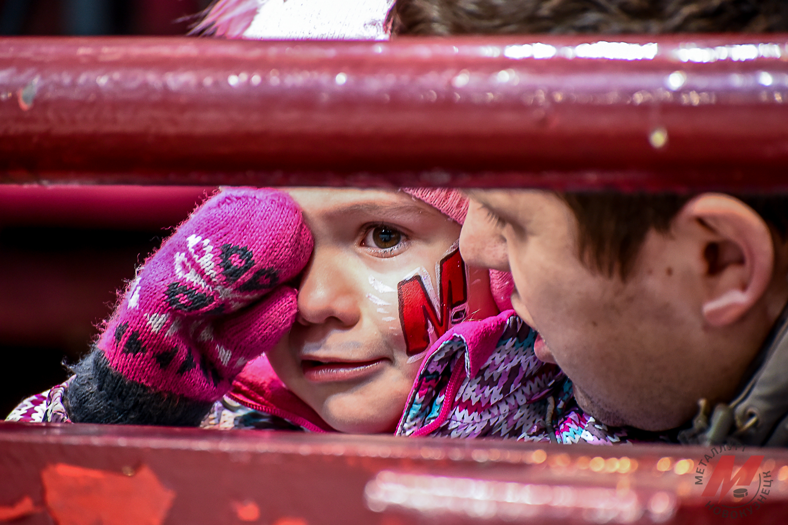
[[[64,406],[74,423],[198,427],[214,405],[126,379],[97,348],[69,368],[75,377],[65,389]]]

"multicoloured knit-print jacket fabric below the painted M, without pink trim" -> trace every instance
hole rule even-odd
[[[571,381],[559,368],[541,362],[533,353],[535,338],[536,332],[511,316],[496,349],[478,374],[464,377],[450,415],[436,429],[421,435],[565,444],[629,442],[626,429],[607,427],[578,407]],[[466,353],[463,338],[455,337],[428,358],[398,435],[417,434],[438,420],[452,377],[466,375]]]

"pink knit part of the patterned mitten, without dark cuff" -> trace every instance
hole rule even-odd
[[[281,191],[210,198],[148,261],[97,346],[125,378],[196,401],[227,392],[296,318],[312,236]]]

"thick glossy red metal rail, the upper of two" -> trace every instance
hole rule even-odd
[[[0,177],[785,190],[786,42],[0,39]]]

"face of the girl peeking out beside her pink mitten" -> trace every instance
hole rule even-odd
[[[426,324],[418,322],[424,320],[421,300],[426,296],[398,288],[414,290],[420,275],[425,288],[432,287],[445,303],[448,294],[440,293],[436,264],[457,260],[447,256],[460,226],[400,191],[320,188],[288,193],[303,209],[314,235],[314,254],[299,287],[296,324],[269,352],[269,361],[284,384],[336,430],[392,431],[422,364],[423,345],[417,343],[440,335],[440,329],[438,334],[413,333],[406,343],[403,320],[411,327]],[[458,281],[464,281],[464,272],[462,279],[456,270],[442,273],[444,290],[446,275],[453,275],[455,308],[438,305],[439,320],[446,319],[445,312],[455,320],[463,311],[469,319],[497,312],[485,270],[470,268],[462,305]],[[401,319],[401,311],[409,313]],[[422,316],[416,323],[412,312]]]

